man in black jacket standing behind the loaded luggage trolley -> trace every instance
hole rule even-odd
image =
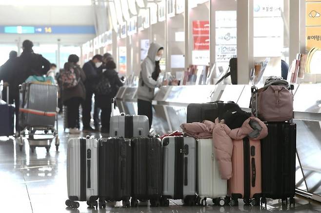
[[[9,103],[15,102],[16,105],[16,124],[19,124],[19,85],[30,75],[45,75],[50,69],[50,62],[42,55],[34,53],[33,46],[32,41],[23,41],[20,57],[10,59],[0,69],[0,80],[9,85]],[[18,125],[16,130],[17,127]]]

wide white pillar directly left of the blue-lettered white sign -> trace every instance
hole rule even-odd
[[[238,84],[248,84],[254,68],[253,0],[238,0],[237,10]]]

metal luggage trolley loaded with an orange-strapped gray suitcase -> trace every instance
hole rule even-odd
[[[41,82],[20,85],[18,143],[22,151],[23,141],[27,139],[31,152],[36,147],[45,147],[49,152],[51,142],[55,140],[59,149],[58,137],[58,86]]]

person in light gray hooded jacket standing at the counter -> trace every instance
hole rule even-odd
[[[149,128],[153,121],[152,100],[155,88],[168,85],[167,81],[159,82],[157,79],[161,73],[160,60],[164,48],[157,43],[151,43],[147,57],[141,63],[139,86],[137,90],[138,114],[146,115],[149,120]]]

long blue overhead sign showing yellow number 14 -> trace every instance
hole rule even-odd
[[[95,34],[94,26],[0,26],[0,34]]]

